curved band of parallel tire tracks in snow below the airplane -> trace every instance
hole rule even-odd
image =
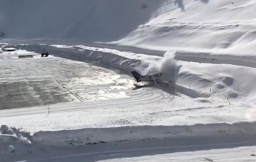
[[[166,96],[166,94],[164,94],[160,90],[154,90],[152,92],[148,91],[147,95],[143,95],[142,93],[142,94],[134,95],[134,97],[52,105],[50,106],[50,113],[80,111],[80,110],[98,109],[98,108],[112,108],[112,107],[122,107],[122,106],[131,106],[131,105],[143,105],[143,104],[163,101],[168,97],[169,95]],[[171,99],[174,99],[174,96],[172,96]],[[47,106],[1,110],[0,117],[12,117],[12,116],[31,115],[31,114],[46,114],[48,111],[46,107]]]

